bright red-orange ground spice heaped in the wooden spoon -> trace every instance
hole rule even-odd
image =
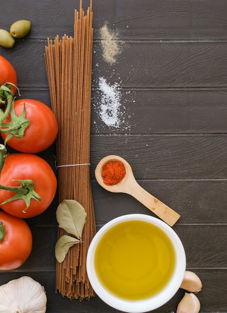
[[[104,184],[112,186],[120,182],[126,174],[124,164],[121,161],[108,161],[102,167],[101,176]]]

